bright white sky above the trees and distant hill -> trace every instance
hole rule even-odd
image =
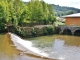
[[[30,0],[22,0],[28,2]],[[49,4],[55,4],[60,6],[67,6],[67,7],[75,7],[80,9],[80,0],[43,0]]]

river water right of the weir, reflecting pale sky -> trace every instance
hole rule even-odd
[[[80,37],[67,35],[29,38],[34,46],[47,52],[50,57],[63,60],[80,60]]]

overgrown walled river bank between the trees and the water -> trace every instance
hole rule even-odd
[[[9,32],[25,38],[53,35],[55,33],[54,25],[35,25],[32,27],[11,26],[8,30]]]

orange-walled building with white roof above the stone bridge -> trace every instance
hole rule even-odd
[[[66,25],[80,26],[80,13],[63,16]]]

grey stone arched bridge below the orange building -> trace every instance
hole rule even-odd
[[[74,35],[75,31],[80,30],[80,26],[58,26],[57,28],[60,30],[59,33],[63,33],[64,30],[70,30],[72,35]]]

